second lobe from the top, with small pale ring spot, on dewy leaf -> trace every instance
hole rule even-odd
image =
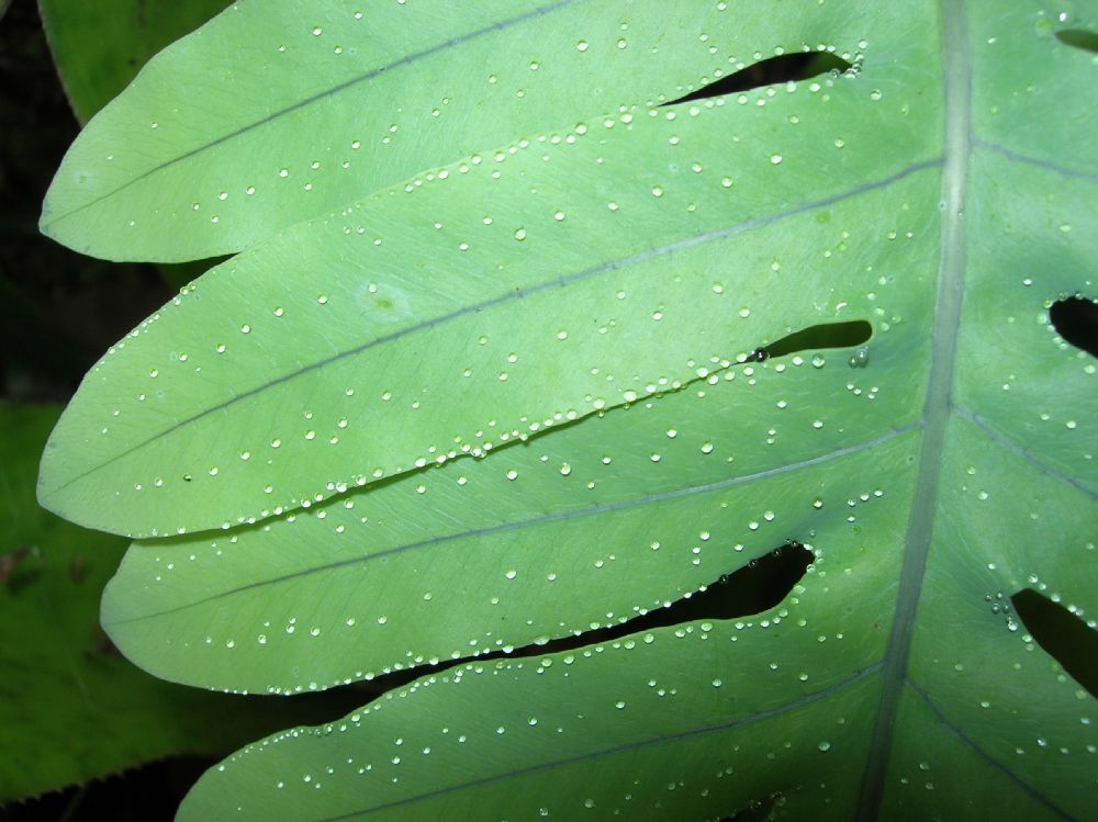
[[[803,89],[805,103],[770,100],[783,121],[803,121],[781,155],[768,133],[740,134],[759,108],[627,111],[283,232],[109,351],[51,441],[41,498],[135,537],[246,522],[680,385],[713,358],[719,368],[839,312],[864,316],[864,295],[825,279],[793,303],[769,295],[819,254],[776,247],[786,219],[844,244],[847,229],[824,219],[859,194],[895,182],[901,196],[938,196],[933,135],[885,106],[869,116],[890,150],[833,145],[855,139],[838,135],[870,83],[911,69],[881,70]],[[825,140],[833,156],[820,164]],[[863,240],[852,256],[872,264],[881,249]],[[901,245],[897,268],[932,267],[932,246]],[[730,280],[732,247],[760,272],[753,282]],[[547,327],[547,316],[558,319]]]

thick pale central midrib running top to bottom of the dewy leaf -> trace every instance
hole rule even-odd
[[[862,778],[858,808],[859,822],[878,819],[884,795],[899,701],[907,676],[915,616],[933,533],[945,428],[950,416],[950,391],[956,360],[956,335],[961,323],[961,301],[964,292],[964,206],[972,140],[971,56],[964,4],[960,0],[942,0],[940,8],[945,162],[942,168],[944,207],[932,359],[927,402],[922,413],[923,435],[919,474],[905,540],[896,609],[881,674],[881,702]]]

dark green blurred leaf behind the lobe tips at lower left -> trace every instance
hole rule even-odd
[[[0,404],[0,802],[166,756],[222,755],[298,713],[158,682],[117,654],[97,624],[98,599],[125,542],[34,505],[38,452],[57,416]],[[325,716],[294,708],[306,721]]]

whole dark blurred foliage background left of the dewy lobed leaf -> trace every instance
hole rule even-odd
[[[210,263],[121,264],[38,234],[65,150],[145,61],[226,0],[0,0],[0,820],[170,819],[248,740],[361,695],[271,699],[134,667],[99,628],[127,541],[35,502],[60,408],[115,340]],[[43,24],[45,21],[45,25]]]

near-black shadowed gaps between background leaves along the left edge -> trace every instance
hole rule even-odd
[[[38,234],[42,200],[78,132],[36,4],[15,0],[0,20],[0,402],[67,402],[108,346],[171,296],[155,266],[103,262]],[[154,763],[0,807],[0,820],[171,819],[213,762]]]

